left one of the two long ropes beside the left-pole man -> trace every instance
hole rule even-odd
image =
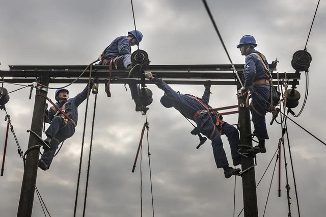
[[[82,139],[82,149],[80,150],[80,159],[79,159],[79,170],[78,170],[78,179],[77,179],[77,189],[75,197],[75,207],[73,211],[73,216],[76,216],[77,209],[77,200],[78,200],[78,190],[79,190],[79,181],[80,181],[80,171],[82,170],[82,161],[83,161],[83,151],[84,151],[84,141],[85,141],[85,131],[86,131],[86,121],[87,121],[87,111],[88,111],[88,100],[91,87],[91,77],[92,77],[92,65],[90,68],[90,76],[88,79],[88,90],[87,90],[87,99],[86,99],[86,109],[85,109],[85,119],[84,119],[84,130],[83,130],[83,139]]]

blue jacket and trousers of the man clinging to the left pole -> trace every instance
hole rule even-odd
[[[56,112],[53,111],[52,108],[49,109],[48,116],[51,124],[45,131],[45,134],[48,138],[51,138],[50,149],[45,148],[41,156],[41,159],[45,161],[48,168],[50,167],[59,144],[72,137],[75,133],[75,124],[77,125],[78,121],[78,106],[87,98],[87,91],[88,87],[86,86],[86,88],[75,97],[56,103],[60,108],[65,104],[65,113],[69,115],[74,123],[70,120],[65,123],[60,112],[56,115]]]

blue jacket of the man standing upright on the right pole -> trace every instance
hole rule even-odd
[[[261,53],[255,49],[250,50],[249,54],[246,56],[246,64],[244,65],[243,71],[243,80],[244,87],[248,89],[252,89],[253,82],[256,80],[268,79],[263,64],[260,62],[258,57],[252,53],[258,53],[258,55],[261,56]],[[267,60],[265,60],[265,64],[269,69]]]

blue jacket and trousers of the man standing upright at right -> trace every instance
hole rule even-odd
[[[244,87],[251,90],[252,105],[254,106],[255,110],[260,113],[258,114],[255,110],[253,110],[252,107],[250,107],[250,112],[252,114],[252,120],[255,128],[254,134],[258,140],[263,140],[268,139],[265,114],[268,106],[270,87],[268,84],[253,85],[253,82],[256,80],[268,79],[263,64],[260,62],[258,57],[253,55],[253,53],[257,53],[262,57],[261,53],[257,50],[250,50],[249,54],[246,56],[243,79]],[[269,65],[266,59],[265,64],[269,69]]]

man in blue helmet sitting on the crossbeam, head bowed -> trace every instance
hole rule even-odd
[[[138,45],[143,39],[143,34],[140,31],[132,30],[128,32],[127,36],[120,36],[113,40],[108,45],[102,55],[101,61],[98,65],[114,64],[115,68],[124,67],[129,71],[128,76],[133,77],[139,72],[139,65],[132,65],[131,63],[131,46]],[[129,84],[131,98],[135,102],[135,110],[137,112],[146,111],[148,108],[144,107],[139,99],[139,88],[136,83]],[[109,96],[109,95],[108,95]]]

